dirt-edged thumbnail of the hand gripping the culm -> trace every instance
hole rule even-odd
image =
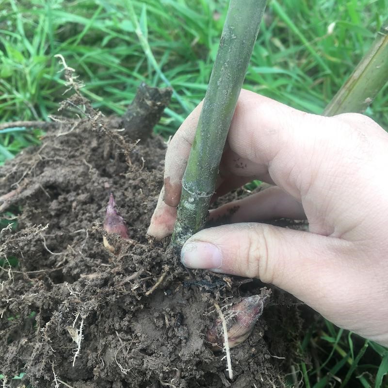
[[[189,268],[217,269],[222,266],[222,253],[210,242],[193,241],[183,245],[180,260]]]

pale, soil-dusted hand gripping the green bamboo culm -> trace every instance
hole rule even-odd
[[[171,140],[148,234],[172,233],[199,105]],[[242,90],[216,194],[252,179],[274,186],[223,207],[233,224],[183,246],[189,268],[258,277],[340,327],[388,346],[388,133],[367,116],[304,113]],[[167,178],[167,179],[166,179]],[[262,224],[307,219],[309,231]]]

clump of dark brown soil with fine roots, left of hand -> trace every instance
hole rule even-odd
[[[194,281],[168,241],[146,238],[165,145],[135,145],[115,128],[117,118],[87,107],[0,169],[1,211],[17,214],[16,229],[1,231],[0,258],[18,261],[3,259],[0,274],[0,373],[25,372],[23,383],[39,388],[285,386],[298,304],[273,290],[251,336],[231,350],[230,381],[224,354],[206,346],[213,304],[267,291],[202,271]],[[116,255],[102,244],[111,192],[132,239],[110,236]]]

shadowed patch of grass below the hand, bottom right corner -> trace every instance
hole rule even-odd
[[[388,387],[388,349],[324,320],[311,326],[301,343],[300,372],[306,387]]]

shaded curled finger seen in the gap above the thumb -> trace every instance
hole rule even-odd
[[[210,210],[210,221],[225,215],[229,215],[229,223],[260,222],[283,217],[306,219],[301,203],[276,186]]]

